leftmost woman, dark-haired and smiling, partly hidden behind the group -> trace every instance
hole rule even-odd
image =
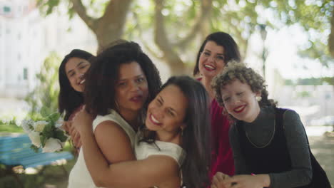
[[[67,54],[59,66],[59,113],[64,113],[64,125],[69,132],[74,147],[80,147],[79,134],[71,126],[71,120],[83,106],[83,89],[85,84],[84,74],[88,71],[91,63],[88,61],[93,55],[86,51],[74,49]]]

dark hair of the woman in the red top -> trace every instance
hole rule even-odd
[[[197,53],[196,66],[193,68],[193,75],[197,75],[199,72],[199,69],[198,69],[199,58],[201,56],[202,51],[204,50],[204,46],[206,46],[206,43],[208,41],[213,41],[218,46],[223,46],[224,51],[225,51],[224,55],[225,55],[226,63],[228,63],[228,61],[231,61],[231,60],[241,61],[241,56],[240,56],[238,45],[236,44],[236,41],[233,40],[232,36],[224,32],[211,33],[203,41],[201,48],[199,49]]]

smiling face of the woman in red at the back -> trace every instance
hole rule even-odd
[[[220,73],[226,65],[225,49],[214,41],[208,41],[199,58],[198,70],[203,77],[213,78]]]

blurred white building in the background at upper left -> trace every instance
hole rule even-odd
[[[96,39],[83,21],[59,12],[44,17],[33,0],[0,1],[0,98],[24,98],[33,90],[50,51],[94,53]]]

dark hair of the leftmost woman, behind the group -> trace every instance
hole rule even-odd
[[[83,103],[83,94],[72,88],[69,78],[67,78],[65,66],[70,58],[82,58],[89,60],[93,55],[86,51],[74,49],[67,54],[61,65],[59,66],[59,96],[58,96],[58,110],[59,113],[64,113],[64,120],[69,120],[71,114]]]

